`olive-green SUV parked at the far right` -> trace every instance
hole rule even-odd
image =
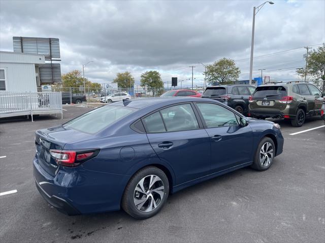
[[[323,98],[316,86],[295,81],[258,86],[249,102],[251,117],[290,119],[291,125],[301,127],[306,116],[320,115]]]

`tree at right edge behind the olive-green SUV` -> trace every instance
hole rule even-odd
[[[306,59],[306,57],[305,57]],[[305,77],[305,68],[299,68],[297,73],[301,77]],[[313,49],[308,55],[307,76],[314,81],[318,88],[325,91],[325,45]]]

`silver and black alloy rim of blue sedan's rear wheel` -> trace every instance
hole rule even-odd
[[[141,212],[151,212],[163,200],[165,186],[160,177],[149,175],[142,178],[134,190],[134,204]]]

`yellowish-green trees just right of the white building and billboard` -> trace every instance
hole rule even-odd
[[[64,73],[61,76],[62,79],[62,87],[63,88],[83,88],[83,77],[81,75],[81,71],[73,70],[68,73]],[[102,85],[95,82],[90,82],[87,78],[85,78],[85,88],[92,88],[91,91],[100,91],[102,89]],[[73,89],[73,93],[80,93],[79,89]]]

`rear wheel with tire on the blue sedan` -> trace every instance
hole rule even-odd
[[[148,185],[151,180],[155,180],[151,187],[153,189],[149,188]],[[144,190],[141,189],[140,185]],[[123,193],[121,206],[132,217],[147,219],[157,214],[164,207],[168,195],[169,181],[166,174],[156,167],[145,167],[129,180]]]

